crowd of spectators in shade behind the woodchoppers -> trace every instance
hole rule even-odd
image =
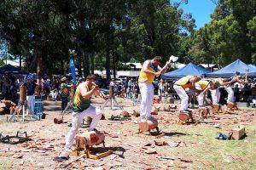
[[[9,99],[14,101],[15,103],[19,102],[19,87],[20,85],[26,82],[28,96],[33,96],[34,88],[36,87],[36,78],[34,75],[30,74],[29,76],[22,75],[13,75],[13,74],[5,74],[0,76],[0,93],[2,94],[2,99]],[[77,83],[75,86],[78,86],[80,82],[83,82],[83,78],[77,78]],[[165,94],[174,94],[173,96],[176,99],[178,95],[173,88],[174,80],[163,80],[154,81],[154,95],[158,95],[161,97]],[[96,80],[97,83],[97,80]],[[125,77],[121,81],[115,81],[111,79],[106,81],[101,88],[108,89],[109,84],[113,83],[113,91],[119,97],[131,99],[132,97],[138,97],[140,94],[140,88],[137,77]],[[32,85],[31,85],[32,84]],[[49,96],[52,100],[62,100],[61,110],[63,111],[69,99],[72,80],[67,79],[67,77],[61,76],[53,76],[47,77],[44,76],[42,78],[42,96],[46,99]],[[32,88],[31,88],[32,86]],[[256,96],[256,82],[254,80],[249,79],[249,83],[233,83],[231,88],[234,91],[234,98],[236,102],[252,102],[254,99],[253,96]],[[225,100],[228,97],[228,93],[224,88],[219,88],[220,91],[220,103],[225,104]],[[186,94],[189,95],[189,103],[195,104],[197,103],[195,99],[195,92],[191,89],[186,90]],[[210,94],[207,95],[210,98]]]

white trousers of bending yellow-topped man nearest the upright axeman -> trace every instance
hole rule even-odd
[[[174,90],[181,99],[179,111],[187,111],[189,107],[189,96],[181,86],[173,85]]]

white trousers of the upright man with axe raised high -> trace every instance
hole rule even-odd
[[[140,82],[140,92],[142,94],[141,102],[141,120],[146,120],[151,116],[152,105],[154,101],[154,87],[153,84]]]

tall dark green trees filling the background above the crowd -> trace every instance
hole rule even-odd
[[[122,68],[177,55],[181,62],[256,63],[253,0],[219,0],[212,20],[198,31],[177,0],[2,0],[0,39],[38,75],[65,74],[75,59],[79,74]],[[75,51],[71,54],[70,51]]]

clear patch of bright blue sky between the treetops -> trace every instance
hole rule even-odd
[[[210,20],[210,14],[213,13],[215,4],[211,0],[189,0],[188,4],[183,4],[184,13],[191,13],[195,19],[196,30],[207,24]]]

